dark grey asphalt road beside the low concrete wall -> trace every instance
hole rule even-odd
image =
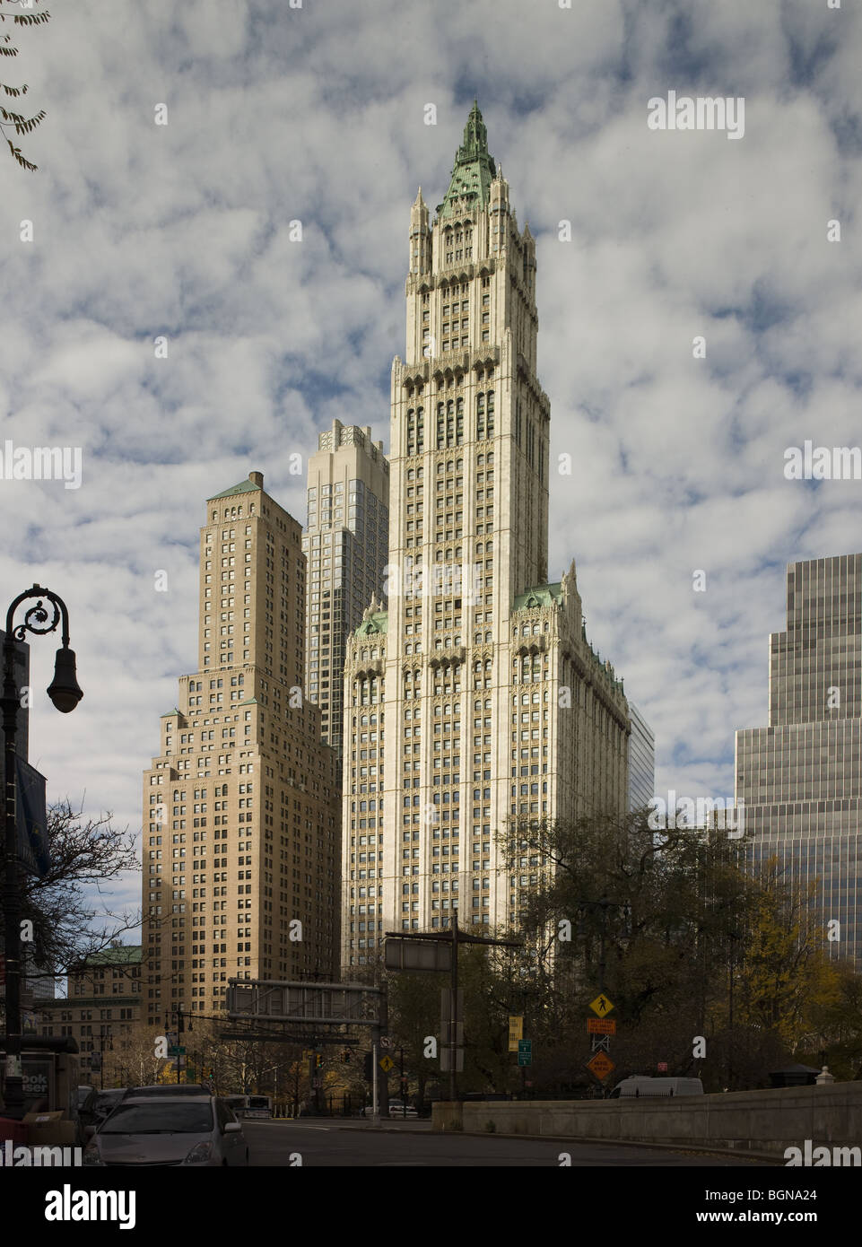
[[[243,1122],[257,1166],[534,1166],[560,1165],[560,1152],[571,1156],[573,1166],[649,1166],[657,1168],[762,1167],[766,1162],[735,1156],[710,1156],[671,1151],[646,1145],[585,1143],[544,1139],[498,1139],[477,1135],[438,1135],[430,1124],[408,1122],[378,1129],[370,1122],[321,1121]],[[293,1155],[294,1160],[291,1160]]]

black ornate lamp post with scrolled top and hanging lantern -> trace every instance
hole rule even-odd
[[[35,599],[27,607],[22,624],[15,624],[15,611],[21,602]],[[49,604],[46,606],[46,604]],[[5,1114],[21,1120],[24,1116],[24,1081],[21,1077],[21,903],[19,889],[17,826],[16,826],[16,733],[19,692],[15,687],[15,642],[27,632],[42,636],[61,625],[62,646],[54,663],[54,680],[47,696],[56,708],[67,715],[75,710],[84,693],[75,675],[75,652],[69,648],[69,611],[66,604],[49,589],[34,585],[19,594],[6,612],[6,636],[2,642],[2,731],[5,737],[6,786],[6,883],[2,902],[4,951],[6,956],[6,1079]]]

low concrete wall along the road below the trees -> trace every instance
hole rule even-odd
[[[699,1143],[772,1152],[862,1145],[862,1082],[667,1100],[468,1101],[433,1107],[434,1130]]]

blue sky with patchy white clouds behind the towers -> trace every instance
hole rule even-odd
[[[551,577],[575,557],[656,791],[731,796],[785,565],[862,547],[862,483],[783,474],[788,446],[862,438],[856,0],[292,4],[76,0],[4,60],[47,115],[16,140],[36,173],[0,151],[0,449],[82,453],[80,489],[0,479],[2,611],[64,596],[85,690],[57,715],[34,641],[50,798],[140,829],[206,496],[261,469],[304,522],[292,454],[334,416],[388,448],[409,207],[442,200],[474,94],[536,237]],[[743,137],[650,130],[671,90],[742,97]]]

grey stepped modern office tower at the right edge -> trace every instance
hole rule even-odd
[[[736,801],[755,860],[820,882],[836,956],[862,954],[862,554],[791,564],[770,637],[770,726],[736,733]],[[837,935],[837,938],[836,938]]]

